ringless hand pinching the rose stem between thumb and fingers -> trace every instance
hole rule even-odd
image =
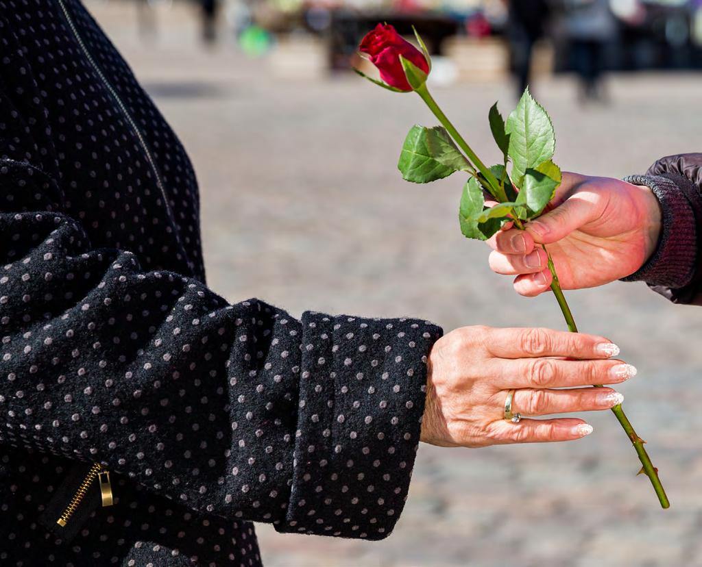
[[[515,290],[535,296],[551,285],[548,245],[563,289],[595,287],[637,271],[661,231],[661,210],[648,187],[607,177],[564,173],[550,211],[526,231],[501,231],[488,241],[490,267],[517,275]]]

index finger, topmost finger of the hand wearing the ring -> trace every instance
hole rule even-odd
[[[604,336],[552,329],[490,329],[483,343],[491,355],[499,358],[562,356],[588,360],[619,354],[619,347]]]

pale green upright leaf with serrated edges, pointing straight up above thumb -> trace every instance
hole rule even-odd
[[[512,181],[521,189],[527,169],[550,160],[555,150],[551,119],[541,104],[531,97],[528,88],[507,119],[505,130],[510,135],[508,153],[513,164]]]

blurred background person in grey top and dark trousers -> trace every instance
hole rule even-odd
[[[602,101],[604,48],[617,34],[609,0],[566,0],[565,19],[571,64],[580,78],[581,100]]]

